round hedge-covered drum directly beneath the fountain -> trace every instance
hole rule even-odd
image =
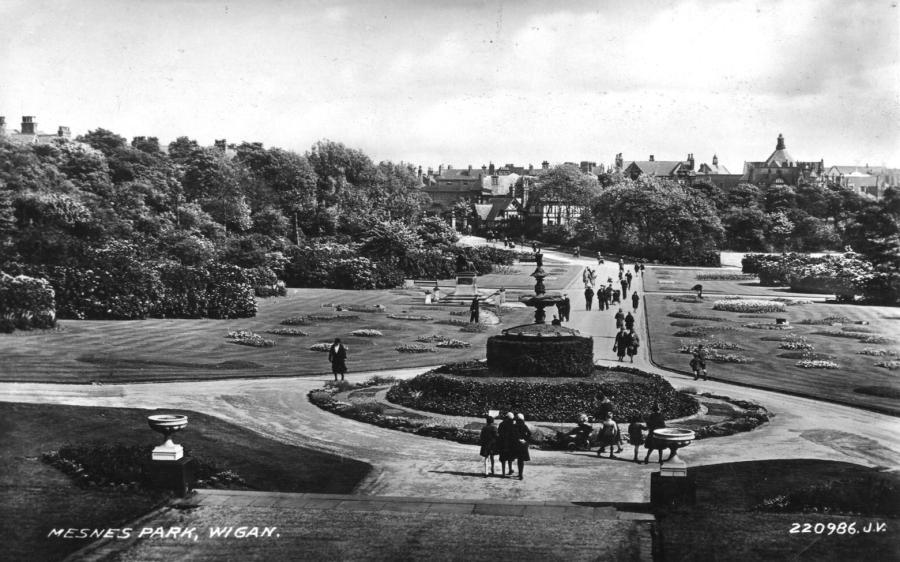
[[[594,370],[594,342],[578,330],[525,324],[487,341],[488,366],[519,377],[587,377]]]

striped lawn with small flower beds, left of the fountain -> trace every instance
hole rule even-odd
[[[62,320],[50,331],[0,334],[0,380],[24,382],[117,383],[253,376],[296,376],[330,372],[327,354],[313,344],[340,337],[349,349],[350,371],[404,368],[481,359],[487,338],[504,327],[531,322],[531,309],[505,309],[503,323],[483,333],[466,333],[460,326],[441,324],[468,320],[465,306],[424,307],[421,291],[340,291],[291,289],[285,297],[259,299],[255,318],[238,320],[75,321]],[[510,300],[516,298],[515,294]],[[383,305],[385,312],[347,312],[326,304]],[[464,315],[451,315],[451,311]],[[431,320],[397,320],[389,314],[427,315]],[[357,316],[344,321],[314,321],[283,326],[299,315]],[[267,334],[295,328],[307,336]],[[381,331],[383,337],[355,337],[355,329]],[[230,343],[232,330],[251,330],[275,341],[256,348]],[[418,336],[440,334],[470,342],[469,348],[440,353],[399,353],[396,347],[415,343]]]

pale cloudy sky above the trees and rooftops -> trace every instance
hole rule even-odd
[[[437,168],[900,167],[897,0],[0,0],[18,128],[321,139]]]

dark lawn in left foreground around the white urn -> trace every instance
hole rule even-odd
[[[52,528],[117,527],[148,512],[161,493],[81,488],[40,460],[61,445],[158,445],[150,410],[0,402],[0,540],[6,560],[58,560],[86,540],[47,539]],[[368,464],[262,438],[195,412],[176,441],[185,452],[240,475],[248,487],[281,492],[350,493]]]

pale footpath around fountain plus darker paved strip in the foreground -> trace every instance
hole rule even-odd
[[[601,282],[618,276],[614,263],[598,266],[595,260],[546,254],[548,261],[598,269]],[[693,381],[652,365],[647,323],[662,319],[644,317],[643,289],[639,281],[634,286],[642,297],[637,329],[644,342],[635,367],[664,376],[676,388],[750,400],[772,414],[770,423],[754,431],[698,441],[683,449],[679,456],[689,466],[813,458],[890,470],[900,467],[897,418],[716,381]],[[580,276],[566,291],[572,300],[567,325],[593,336],[598,363],[616,363],[612,343],[617,308],[585,311]],[[630,299],[622,308],[631,309]],[[409,378],[425,370],[378,374]],[[372,374],[348,378],[362,381]],[[526,559],[650,558],[647,512],[650,473],[657,469],[653,464],[629,462],[628,451],[623,454],[626,458],[610,460],[588,452],[533,450],[524,480],[483,478],[477,447],[356,422],[310,404],[306,394],[329,378],[103,386],[3,383],[0,400],[194,410],[266,437],[374,467],[351,497],[201,491],[131,525],[194,526],[201,532],[216,526],[275,526],[279,537],[114,540],[92,545],[77,559],[487,559],[498,554]]]

